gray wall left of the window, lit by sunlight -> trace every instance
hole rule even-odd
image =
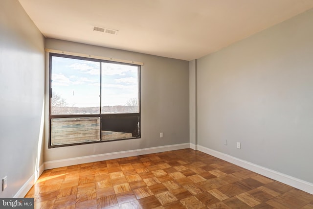
[[[0,0],[0,180],[8,183],[0,197],[13,197],[43,163],[44,48],[19,1]]]

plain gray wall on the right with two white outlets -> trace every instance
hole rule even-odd
[[[198,60],[199,145],[313,183],[312,21],[309,10]]]

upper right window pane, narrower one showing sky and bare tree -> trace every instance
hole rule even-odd
[[[101,113],[138,113],[138,67],[101,65]]]

